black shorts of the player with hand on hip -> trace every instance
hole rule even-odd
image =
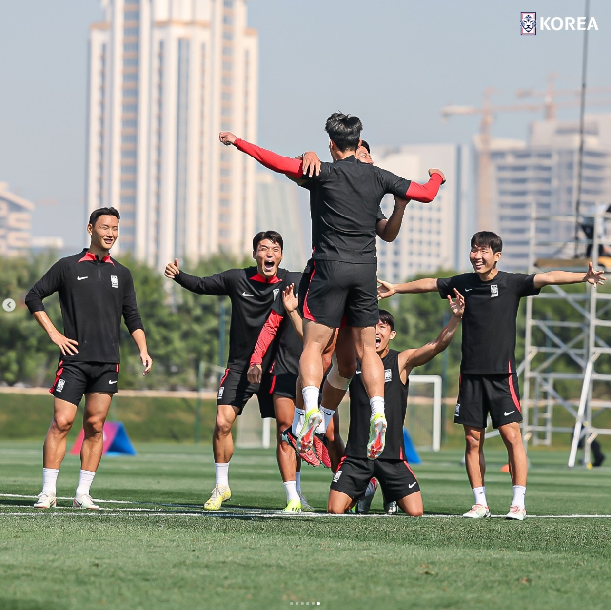
[[[119,364],[108,362],[64,362],[57,364],[55,382],[49,392],[54,397],[78,405],[83,394],[114,394],[119,385]]]

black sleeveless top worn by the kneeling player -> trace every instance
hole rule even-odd
[[[386,444],[379,460],[404,460],[405,448],[403,446],[403,422],[408,408],[409,377],[406,383],[401,381],[399,370],[399,352],[388,350],[382,358],[384,364],[384,411],[386,413]],[[369,442],[369,420],[371,407],[369,397],[365,391],[362,380],[360,362],[356,373],[350,381],[350,427],[348,428],[348,442],[346,455],[366,458],[367,443]]]

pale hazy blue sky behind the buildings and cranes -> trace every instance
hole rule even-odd
[[[544,89],[549,72],[559,74],[558,88],[579,87],[583,32],[520,36],[519,17],[579,17],[584,6],[250,0],[260,41],[258,143],[287,154],[325,152],[324,119],[337,110],[360,116],[373,144],[467,143],[478,117],[444,123],[444,105],[480,105],[485,87],[496,89],[494,103],[513,103],[519,88]],[[611,2],[591,0],[591,14],[599,31],[590,31],[588,83],[611,85]],[[98,0],[0,9],[0,180],[38,204],[35,235],[60,235],[75,247],[85,221],[87,37],[100,18]],[[493,133],[525,138],[540,116],[500,115]]]

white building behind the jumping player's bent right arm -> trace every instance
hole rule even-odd
[[[467,155],[455,144],[377,147],[373,162],[393,174],[416,182],[428,180],[428,169],[438,167],[447,184],[430,204],[410,202],[399,235],[392,243],[378,238],[378,275],[403,282],[417,273],[464,269],[468,265],[472,211],[467,203]],[[395,200],[387,195],[382,211],[389,217]]]

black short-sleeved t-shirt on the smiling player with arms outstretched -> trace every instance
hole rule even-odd
[[[522,296],[541,292],[535,275],[499,271],[483,282],[477,273],[463,273],[437,280],[442,299],[464,296],[463,361],[461,372],[495,375],[516,372],[516,317]]]

